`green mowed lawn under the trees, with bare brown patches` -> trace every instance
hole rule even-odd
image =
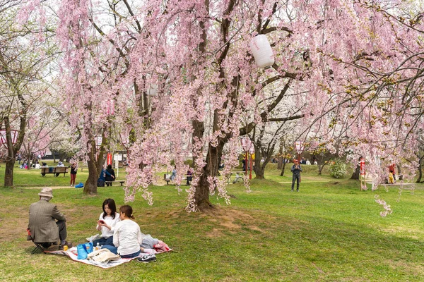
[[[279,176],[271,164],[266,180],[252,180],[251,192],[242,183],[228,185],[231,205],[211,196],[217,209],[204,213],[184,211],[187,192],[152,186],[153,206],[140,194],[130,204],[141,231],[173,250],[151,264],[133,261],[112,269],[58,255],[30,255],[28,207],[40,189],[0,188],[0,280],[423,281],[422,185],[412,192],[398,186],[360,192],[357,181],[318,177],[311,167],[302,174],[300,192],[290,192],[291,173],[285,173]],[[35,174],[17,170],[15,180],[33,187],[25,181]],[[391,215],[379,216],[383,209],[375,195],[391,205]],[[67,216],[69,240],[83,243],[95,233],[106,197],[124,204],[119,186],[98,188],[97,196],[54,189],[52,202]]]

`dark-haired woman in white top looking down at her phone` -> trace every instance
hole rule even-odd
[[[98,225],[95,227],[102,231],[101,238],[93,241],[93,245],[113,245],[114,228],[119,221],[117,206],[113,199],[106,199],[102,204],[103,212],[99,216]]]

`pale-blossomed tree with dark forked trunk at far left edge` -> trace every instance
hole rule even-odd
[[[16,20],[23,1],[0,1],[0,124],[6,130],[4,186],[13,186],[15,154],[25,137],[30,107],[37,103],[49,75],[49,63],[57,54],[47,28],[35,23],[20,25]],[[18,130],[13,144],[11,131]]]

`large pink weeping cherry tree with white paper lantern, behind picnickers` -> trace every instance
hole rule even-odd
[[[391,1],[386,11],[399,3]],[[418,121],[419,114],[394,99],[402,80],[387,78],[401,75],[403,69],[396,67],[406,59],[406,47],[394,35],[415,44],[419,33],[407,32],[381,9],[359,1],[149,1],[129,6],[143,23],[131,49],[131,70],[146,74],[159,89],[151,103],[151,123],[134,124],[137,138],[128,178],[132,190],[126,200],[133,200],[136,190],[150,199],[147,189],[157,165],[173,159],[177,170],[185,171],[184,156],[193,155],[187,209],[211,207],[213,191],[228,201],[218,165],[225,163],[225,176],[237,157],[224,155],[223,148],[237,152],[240,135],[271,121],[269,113],[285,91],[266,106],[259,103],[265,100],[264,88],[276,81],[307,104],[300,113],[278,120],[302,118],[305,135],[324,138],[330,152],[344,146],[358,154],[370,154],[376,147],[382,156],[408,153],[406,142],[413,139],[405,122],[413,125],[410,121]],[[248,47],[257,34],[269,36],[276,54],[273,68],[265,71],[255,66]],[[252,121],[240,127],[240,116],[247,111]],[[398,116],[384,114],[397,111]],[[352,138],[336,142],[343,135]],[[393,135],[394,140],[382,138]]]

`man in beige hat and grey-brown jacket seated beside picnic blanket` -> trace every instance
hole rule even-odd
[[[66,242],[66,219],[49,200],[53,197],[52,188],[43,188],[40,193],[40,201],[30,205],[30,222],[28,228],[34,242],[42,243],[47,248],[56,245],[60,239],[59,250],[63,250],[64,245],[72,247]],[[56,221],[57,220],[57,221]]]

